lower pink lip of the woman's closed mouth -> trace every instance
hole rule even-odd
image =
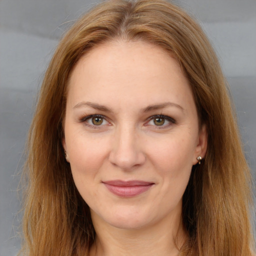
[[[132,197],[147,191],[153,184],[135,186],[115,186],[104,183],[106,188],[115,195],[121,197]]]

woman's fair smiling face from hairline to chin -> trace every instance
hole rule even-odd
[[[174,58],[145,42],[112,42],[71,73],[62,143],[92,220],[142,228],[180,217],[206,134]]]

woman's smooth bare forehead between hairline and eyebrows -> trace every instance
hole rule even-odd
[[[68,86],[67,101],[72,105],[84,100],[120,106],[170,100],[193,104],[177,60],[160,47],[141,41],[92,48],[76,63]]]

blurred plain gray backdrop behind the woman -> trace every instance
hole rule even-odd
[[[219,56],[255,177],[256,0],[176,2],[200,20]],[[19,248],[18,171],[43,72],[70,21],[94,3],[0,0],[0,256],[16,255]]]

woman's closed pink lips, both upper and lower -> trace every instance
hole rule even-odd
[[[108,180],[103,181],[106,188],[115,195],[131,197],[148,190],[154,183],[141,180]]]

